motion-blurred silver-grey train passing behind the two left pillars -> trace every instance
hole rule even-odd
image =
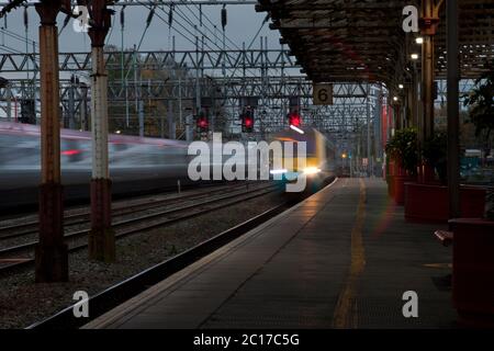
[[[40,184],[40,126],[0,122],[0,208],[35,204]],[[187,185],[188,143],[135,136],[109,136],[113,194]],[[91,134],[60,131],[61,182],[65,197],[88,197]]]

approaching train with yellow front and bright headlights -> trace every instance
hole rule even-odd
[[[272,159],[272,174],[282,174],[281,181],[295,182],[300,176],[306,177],[305,192],[313,193],[323,184],[336,176],[336,149],[321,132],[314,128],[291,127],[277,133],[272,137],[278,141],[291,141],[294,144],[292,155],[283,152],[282,159]],[[297,143],[305,141],[305,162],[299,162]],[[281,168],[277,169],[276,165]]]

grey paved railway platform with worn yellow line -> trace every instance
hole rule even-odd
[[[339,179],[83,328],[451,328],[436,229],[382,180]]]

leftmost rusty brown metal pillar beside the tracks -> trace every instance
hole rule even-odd
[[[36,283],[68,281],[68,253],[64,244],[64,201],[60,184],[60,125],[58,33],[60,1],[36,3],[40,14],[41,172],[40,241],[35,248]]]

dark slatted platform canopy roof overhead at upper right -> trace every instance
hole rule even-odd
[[[436,3],[440,1],[436,0]],[[402,29],[403,9],[420,1],[406,0],[260,0],[271,29],[281,32],[308,78],[316,82],[402,79],[420,54],[420,33]],[[494,58],[494,0],[460,0],[461,77],[474,78]],[[445,3],[435,38],[436,77],[446,76]]]

